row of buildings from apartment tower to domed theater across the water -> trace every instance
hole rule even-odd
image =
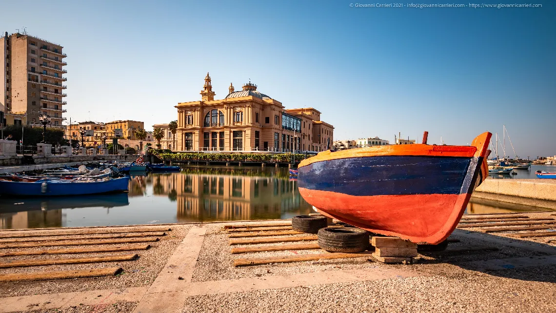
[[[0,111],[4,125],[40,126],[39,116],[51,118],[51,127],[66,129],[71,140],[80,140],[80,130],[93,130],[84,138],[86,145],[99,145],[112,138],[115,129],[123,131],[123,138],[136,141],[133,132],[143,128],[138,121],[109,123],[81,122],[62,125],[66,121],[67,88],[64,74],[67,63],[59,44],[29,36],[26,32],[0,37],[2,67],[0,78]],[[178,103],[178,130],[174,138],[167,124],[162,148],[173,151],[323,151],[332,147],[334,127],[321,120],[321,112],[312,107],[286,109],[280,101],[257,91],[251,82],[215,100],[209,73],[201,91],[200,101]]]

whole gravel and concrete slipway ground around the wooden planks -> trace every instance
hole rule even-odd
[[[528,218],[554,218],[552,212],[526,213]],[[519,215],[522,215],[521,213]],[[512,218],[512,214],[466,216]],[[0,231],[5,235],[51,235],[77,232],[132,233],[165,228],[150,249],[90,252],[64,257],[137,254],[129,261],[47,265],[1,269],[0,274],[121,268],[116,275],[60,280],[3,282],[0,312],[539,312],[552,311],[556,300],[556,245],[552,237],[488,233],[482,226],[460,223],[448,250],[421,252],[413,265],[388,265],[371,257],[236,267],[241,259],[326,254],[320,249],[231,254],[232,232],[225,225],[266,227],[287,220],[181,223],[125,227],[57,228]],[[276,227],[275,227],[276,228]],[[255,230],[252,230],[255,231]],[[249,232],[246,232],[249,233]],[[91,235],[72,235],[86,240]],[[155,235],[153,235],[155,236]],[[289,238],[303,235],[270,236]],[[43,237],[42,240],[53,237]],[[152,238],[152,237],[150,237]],[[100,249],[106,244],[93,247]],[[5,240],[4,240],[5,241]],[[57,241],[46,241],[57,242]],[[308,241],[311,243],[315,241]],[[274,246],[291,245],[277,243]],[[303,242],[293,244],[304,244]],[[134,244],[137,245],[137,244]],[[120,244],[122,246],[122,244]],[[69,246],[72,248],[73,246]],[[60,246],[43,247],[61,249]],[[36,248],[2,249],[18,252]],[[58,259],[59,255],[2,256],[1,264],[19,260]],[[41,311],[43,312],[43,311]]]

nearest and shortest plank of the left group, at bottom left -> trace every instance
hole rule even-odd
[[[49,279],[68,279],[81,277],[114,276],[122,271],[121,267],[107,267],[106,269],[93,270],[74,270],[57,272],[34,272],[2,274],[0,281],[26,281],[26,280],[49,280]]]

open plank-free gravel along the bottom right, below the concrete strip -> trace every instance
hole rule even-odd
[[[554,312],[554,282],[556,266],[490,274],[456,270],[447,275],[189,297],[183,312]]]

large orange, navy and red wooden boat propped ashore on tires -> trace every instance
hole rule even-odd
[[[325,216],[386,236],[439,244],[488,176],[491,133],[471,146],[424,144],[324,151],[301,161],[299,192]]]

